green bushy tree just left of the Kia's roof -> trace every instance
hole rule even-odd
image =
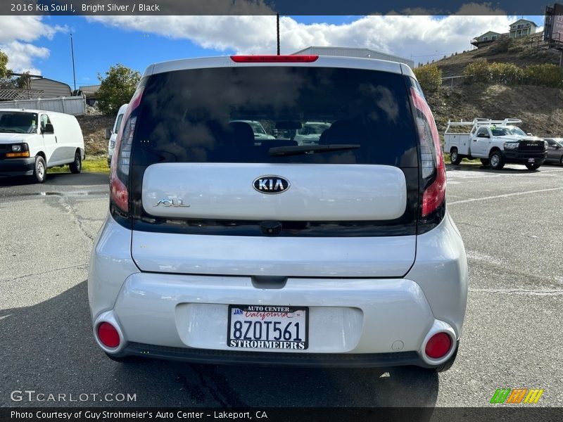
[[[141,74],[119,63],[111,66],[103,78],[98,74],[100,89],[98,90],[98,108],[102,113],[115,114],[122,104],[129,103]]]

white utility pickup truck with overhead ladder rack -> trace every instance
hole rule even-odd
[[[493,170],[500,170],[507,163],[524,164],[529,170],[536,170],[547,156],[546,143],[515,126],[521,122],[519,119],[449,121],[444,152],[450,154],[452,164],[460,164],[463,158],[481,158],[483,165]]]

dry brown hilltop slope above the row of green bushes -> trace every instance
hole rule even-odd
[[[559,51],[536,49],[531,45],[533,37],[529,35],[519,39],[502,38],[480,49],[457,53],[457,55],[436,60],[433,64],[442,70],[442,76],[463,75],[463,68],[472,61],[486,58],[489,62],[513,63],[519,67],[542,63],[559,64]]]

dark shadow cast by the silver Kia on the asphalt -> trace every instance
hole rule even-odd
[[[25,283],[24,280],[13,282]],[[94,342],[87,282],[30,307],[0,310],[0,406],[433,407],[436,373],[391,369],[279,369],[110,361]],[[99,394],[84,402],[20,402],[13,390]],[[103,401],[107,393],[132,402]]]

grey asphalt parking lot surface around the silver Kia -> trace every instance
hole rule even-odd
[[[107,175],[0,179],[0,406],[481,407],[497,388],[541,388],[536,406],[563,406],[563,167],[447,174],[469,302],[457,362],[439,375],[112,362],[92,337],[86,281]],[[15,390],[66,396],[14,402]]]

